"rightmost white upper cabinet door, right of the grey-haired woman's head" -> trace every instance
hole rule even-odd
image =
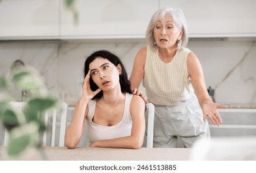
[[[183,10],[190,37],[256,36],[255,0],[159,1]]]

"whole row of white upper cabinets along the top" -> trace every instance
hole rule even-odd
[[[0,0],[0,40],[145,38],[160,7],[180,7],[190,37],[256,37],[255,0]]]

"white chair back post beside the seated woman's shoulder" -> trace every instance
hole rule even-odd
[[[146,104],[148,109],[148,122],[147,122],[147,148],[153,148],[153,120],[155,117],[155,106],[152,103]]]

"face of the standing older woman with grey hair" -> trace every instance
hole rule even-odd
[[[177,40],[181,39],[182,31],[176,26],[172,17],[167,14],[163,20],[155,22],[153,36],[159,48],[176,48]]]

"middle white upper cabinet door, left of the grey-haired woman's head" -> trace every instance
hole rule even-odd
[[[157,0],[78,0],[71,10],[61,4],[62,38],[145,38]]]

